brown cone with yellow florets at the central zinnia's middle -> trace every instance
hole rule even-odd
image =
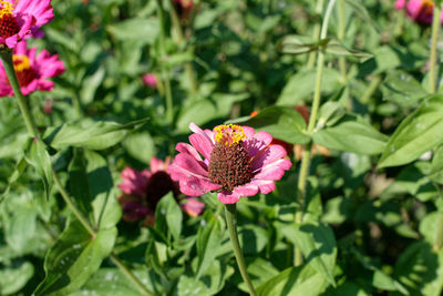
[[[253,180],[250,156],[243,140],[245,131],[239,125],[218,125],[215,146],[210,152],[209,178],[226,191]]]

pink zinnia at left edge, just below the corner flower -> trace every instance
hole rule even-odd
[[[35,55],[37,49],[27,49],[27,42],[21,41],[13,50],[13,67],[24,95],[33,91],[51,91],[54,86],[48,78],[58,76],[64,72],[63,62],[59,55],[51,55],[47,50],[42,50]],[[0,96],[13,95],[13,90],[4,68],[0,67]]]

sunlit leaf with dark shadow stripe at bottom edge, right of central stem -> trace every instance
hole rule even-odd
[[[289,267],[270,278],[257,288],[257,295],[320,295],[326,286],[323,275],[305,265]]]

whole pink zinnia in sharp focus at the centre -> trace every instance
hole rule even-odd
[[[194,132],[192,145],[178,143],[179,153],[168,167],[171,177],[187,195],[218,191],[222,203],[234,204],[240,197],[274,191],[274,182],[291,167],[284,159],[285,149],[270,144],[272,136],[267,132],[233,124],[203,131],[190,123],[189,129]]]

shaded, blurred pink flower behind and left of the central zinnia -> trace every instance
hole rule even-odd
[[[136,171],[126,166],[121,173],[123,183],[119,188],[124,193],[119,197],[123,208],[123,220],[140,221],[153,225],[155,221],[155,208],[159,200],[168,192],[173,192],[174,197],[178,197],[178,184],[174,182],[166,172],[171,164],[171,159],[165,161],[156,157],[151,159],[151,171]],[[185,203],[181,205],[189,216],[198,216],[205,208],[205,204],[192,197],[185,197]]]

